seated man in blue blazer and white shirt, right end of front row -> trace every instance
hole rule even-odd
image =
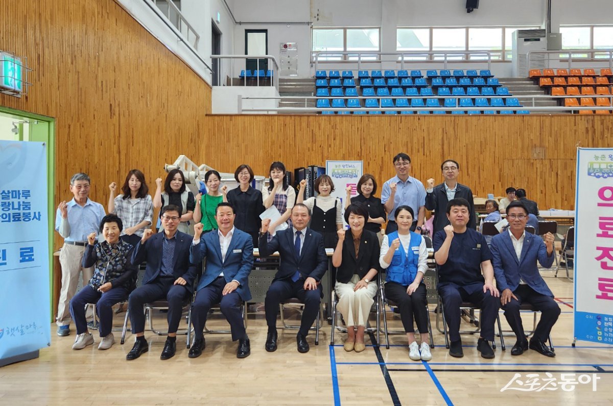
[[[554,263],[554,235],[547,233],[544,240],[525,232],[528,209],[522,201],[512,201],[506,208],[509,230],[492,238],[492,257],[496,284],[501,291],[500,303],[504,316],[517,336],[511,355],[521,355],[530,347],[539,353],[554,357],[554,351],[544,343],[558,320],[560,307],[554,294],[539,274],[536,261],[545,268]],[[530,339],[524,334],[519,308],[527,302],[541,312],[541,320]]]

